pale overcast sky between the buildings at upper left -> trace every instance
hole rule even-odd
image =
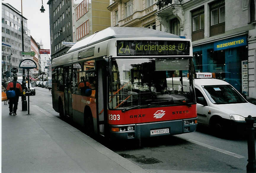
[[[14,8],[21,12],[21,0],[4,0],[4,3],[9,3]],[[44,13],[41,13],[42,0],[22,0],[22,13],[27,18],[28,29],[30,35],[44,45],[44,49],[51,49],[50,47],[50,25],[49,25],[49,5],[48,0],[43,0]]]

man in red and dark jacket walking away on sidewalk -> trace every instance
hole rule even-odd
[[[15,97],[9,98],[9,110],[10,110],[9,115],[12,115],[12,111],[13,111],[13,115],[17,115],[16,111],[18,109],[18,101],[19,101],[19,97],[22,94],[22,87],[20,83],[17,82],[17,79],[18,79],[17,76],[14,76],[13,81],[9,82],[8,86],[6,87],[7,91],[15,90]],[[12,105],[14,106],[12,107]]]

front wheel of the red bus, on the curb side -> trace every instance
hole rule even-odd
[[[92,112],[88,108],[84,109],[84,131],[88,136],[90,137],[94,136]]]

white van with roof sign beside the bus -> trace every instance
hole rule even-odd
[[[245,117],[255,117],[256,105],[244,99],[229,83],[213,79],[212,73],[196,73],[197,122],[209,126],[214,133],[244,130]]]

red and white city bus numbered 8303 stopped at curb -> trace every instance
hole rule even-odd
[[[191,40],[109,27],[52,60],[52,104],[88,135],[120,140],[189,133],[197,125],[192,74]]]

